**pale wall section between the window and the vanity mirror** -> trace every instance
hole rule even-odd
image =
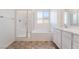
[[[64,25],[64,10],[62,9],[50,10],[50,24],[51,24],[51,31],[53,31],[54,27],[62,27]]]

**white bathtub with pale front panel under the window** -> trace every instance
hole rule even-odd
[[[32,31],[31,33],[32,39],[40,39],[40,40],[50,40],[51,35],[50,32],[45,31]]]

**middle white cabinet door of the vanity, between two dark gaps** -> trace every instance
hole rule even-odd
[[[71,49],[72,34],[69,32],[62,32],[62,48]]]

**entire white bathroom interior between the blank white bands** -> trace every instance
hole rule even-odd
[[[0,9],[0,48],[79,48],[78,19],[78,9]]]

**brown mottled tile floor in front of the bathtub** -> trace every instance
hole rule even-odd
[[[8,49],[55,49],[51,41],[15,41]]]

